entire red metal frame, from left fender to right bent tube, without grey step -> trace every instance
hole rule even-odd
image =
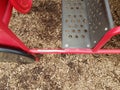
[[[12,1],[12,3],[10,2]],[[93,49],[29,49],[20,39],[8,28],[9,20],[15,0],[1,0],[0,2],[0,47],[23,50],[31,55],[36,54],[120,54],[120,49],[101,49],[113,36],[120,34],[120,26],[109,30]],[[19,0],[18,0],[19,1]],[[21,0],[20,0],[21,1]],[[23,0],[24,1],[24,0]],[[31,5],[29,0],[28,4]],[[13,4],[14,3],[14,4]],[[18,3],[17,3],[18,4]],[[19,10],[22,13],[28,12],[30,6]]]

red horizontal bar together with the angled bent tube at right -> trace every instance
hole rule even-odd
[[[120,49],[101,49],[113,36],[120,34],[120,27],[109,30],[93,49],[31,49],[35,54],[120,54]]]

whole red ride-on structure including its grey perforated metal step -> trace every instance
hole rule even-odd
[[[37,54],[116,54],[119,49],[102,49],[120,27],[114,27],[108,0],[62,0],[62,49],[29,49],[8,28],[13,7],[25,14],[32,0],[1,0],[0,52],[37,60]]]

